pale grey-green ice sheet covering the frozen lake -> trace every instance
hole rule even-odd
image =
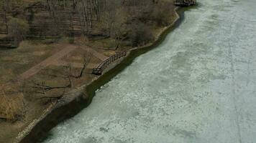
[[[200,0],[49,143],[256,143],[256,1]]]

